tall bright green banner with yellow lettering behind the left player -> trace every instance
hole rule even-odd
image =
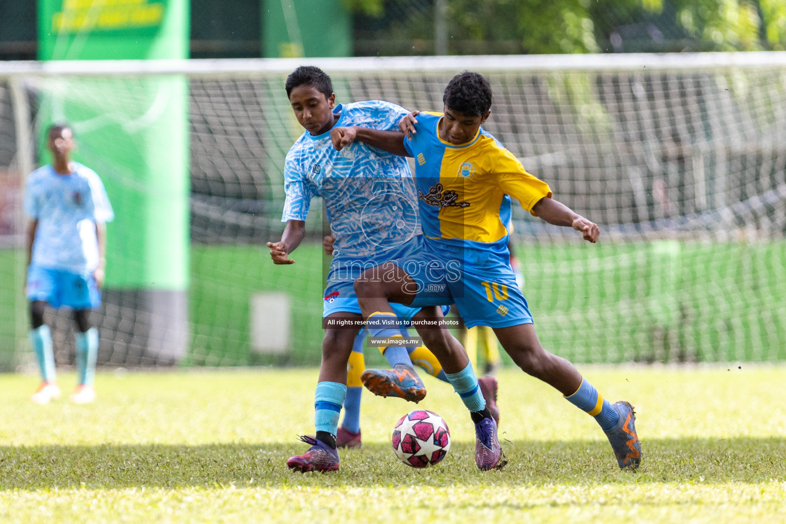
[[[41,60],[187,58],[188,42],[188,0],[39,0]],[[187,79],[64,75],[37,87],[39,144],[50,123],[71,125],[75,159],[101,176],[115,210],[105,299],[147,313],[129,334],[145,332],[156,361],[177,361],[187,342]]]

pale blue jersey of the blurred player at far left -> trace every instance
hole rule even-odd
[[[24,186],[24,212],[39,221],[31,263],[84,273],[98,266],[96,222],[112,222],[115,214],[101,178],[74,164],[71,174],[51,165],[33,171]]]

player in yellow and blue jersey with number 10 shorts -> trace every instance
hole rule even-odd
[[[589,242],[597,242],[600,229],[554,200],[549,185],[527,173],[511,152],[483,130],[481,125],[491,113],[491,97],[487,79],[465,71],[448,83],[443,113],[413,112],[402,119],[400,129],[408,137],[401,134],[399,141],[393,141],[389,132],[333,130],[336,148],[358,139],[412,156],[416,163],[423,250],[369,269],[355,281],[362,313],[366,318],[390,314],[390,302],[410,307],[454,302],[468,327],[494,328],[516,365],[593,416],[620,468],[638,467],[641,443],[633,406],[626,401],[610,404],[570,362],[543,348],[509,263],[505,225],[510,220],[511,197],[534,216],[572,227]],[[435,354],[447,367],[443,355]],[[466,374],[469,371],[471,366]],[[485,451],[486,467],[478,461],[482,469],[494,467],[501,456],[498,445],[494,446],[496,426],[488,423],[487,431],[491,445]]]

